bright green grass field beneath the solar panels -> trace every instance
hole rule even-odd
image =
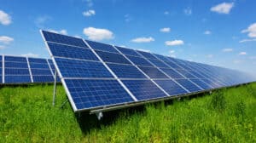
[[[256,83],[196,98],[74,114],[61,85],[0,89],[0,142],[256,142]]]

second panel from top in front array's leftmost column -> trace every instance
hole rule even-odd
[[[57,43],[48,43],[48,45],[53,56],[82,60],[98,60],[96,55],[90,49],[61,45]]]

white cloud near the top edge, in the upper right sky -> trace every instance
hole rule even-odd
[[[211,8],[212,12],[218,14],[230,14],[230,10],[234,7],[234,3],[220,3]]]

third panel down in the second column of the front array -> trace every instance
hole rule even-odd
[[[119,78],[147,78],[135,66],[107,64]]]

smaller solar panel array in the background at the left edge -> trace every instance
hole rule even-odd
[[[53,83],[54,73],[52,60],[0,55],[0,83]]]

